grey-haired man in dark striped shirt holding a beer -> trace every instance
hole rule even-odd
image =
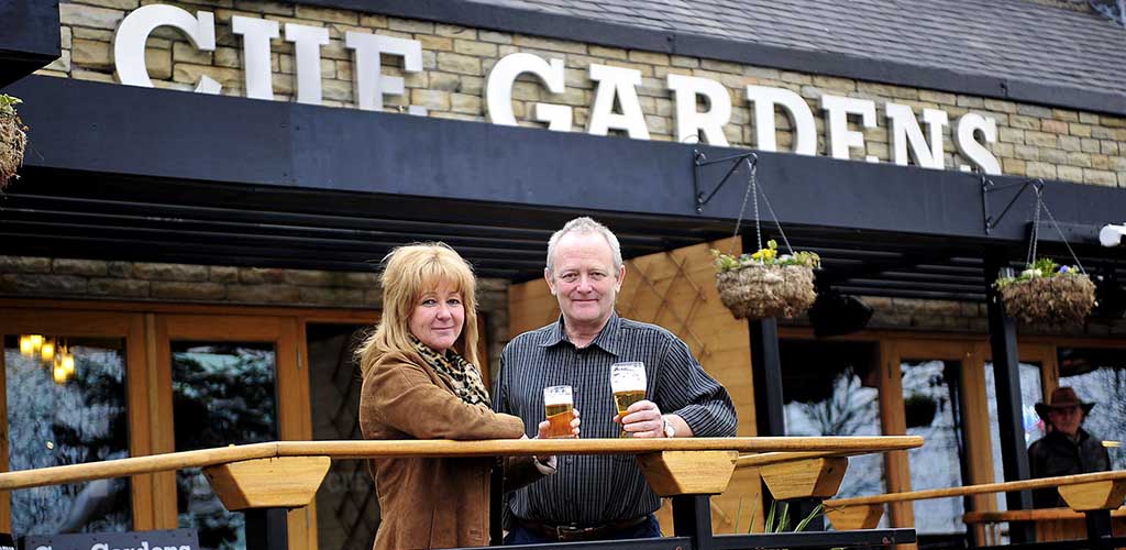
[[[735,409],[688,346],[654,325],[614,312],[625,265],[618,239],[590,218],[571,220],[547,245],[544,278],[560,320],[504,347],[493,406],[529,426],[544,417],[543,389],[569,384],[583,437],[735,435]],[[618,418],[610,365],[645,365],[646,399]],[[530,434],[529,434],[530,435]],[[506,544],[660,536],[660,499],[633,455],[561,456],[557,471],[516,491]]]

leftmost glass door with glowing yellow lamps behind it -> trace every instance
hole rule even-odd
[[[149,454],[142,316],[7,308],[0,317],[0,468],[26,470]],[[153,529],[152,476],[0,494],[0,531]]]

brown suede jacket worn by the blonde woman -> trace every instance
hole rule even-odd
[[[403,354],[381,357],[364,376],[359,401],[366,440],[501,440],[525,435],[511,415],[468,405],[432,369]],[[490,458],[374,459],[382,523],[376,550],[481,547],[489,543]],[[509,464],[535,477],[530,459]]]

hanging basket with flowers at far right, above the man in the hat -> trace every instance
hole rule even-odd
[[[1015,319],[1028,323],[1080,323],[1094,308],[1094,283],[1074,266],[1040,258],[1016,277],[993,283]]]

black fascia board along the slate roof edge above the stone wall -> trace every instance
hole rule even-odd
[[[838,52],[808,51],[465,0],[302,0],[324,8],[1126,116],[1126,95]]]

